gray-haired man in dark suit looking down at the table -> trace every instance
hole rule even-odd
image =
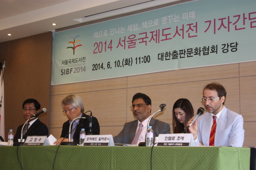
[[[63,113],[67,115],[69,118],[68,121],[63,123],[62,126],[62,132],[61,137],[54,142],[54,144],[58,145],[61,142],[68,142],[68,135],[69,135],[69,125],[71,121],[73,121],[77,117],[89,117],[88,115],[85,115],[84,108],[83,108],[83,102],[80,96],[78,95],[68,95],[65,97],[62,101],[62,107],[63,107]],[[71,128],[70,133],[70,140],[72,142],[76,142],[79,144],[79,138],[80,138],[80,131],[84,128],[86,135],[88,135],[89,132],[89,119],[76,119]],[[91,129],[93,135],[99,135],[100,134],[100,125],[98,123],[98,120],[96,117],[93,117],[93,123],[92,123],[92,129]]]

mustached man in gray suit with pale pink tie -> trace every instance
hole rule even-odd
[[[132,122],[127,122],[124,124],[122,131],[115,137],[113,137],[115,143],[126,143],[126,144],[139,144],[140,142],[145,142],[145,136],[147,131],[148,120],[151,115],[151,99],[143,94],[136,93],[132,98],[132,112],[137,120]],[[140,129],[141,126],[141,130]],[[171,133],[171,128],[168,123],[151,119],[149,126],[152,126],[154,132],[154,139],[158,137],[159,134]],[[136,139],[136,132],[141,131]]]

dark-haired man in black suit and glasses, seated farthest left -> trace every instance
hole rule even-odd
[[[40,110],[40,103],[35,99],[26,99],[22,104],[23,109],[23,117],[26,119],[30,119],[32,115]],[[14,142],[18,142],[20,139],[20,133],[23,124],[21,124],[16,131],[15,137],[13,139]],[[28,122],[28,127],[24,126],[22,139],[26,139],[27,136],[48,136],[48,128],[47,126],[39,121],[39,118],[32,119]]]

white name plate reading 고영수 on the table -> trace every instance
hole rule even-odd
[[[47,146],[49,140],[47,136],[27,136],[23,146]]]

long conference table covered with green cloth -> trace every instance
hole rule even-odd
[[[250,148],[0,146],[0,170],[21,167],[23,170],[249,170]]]

